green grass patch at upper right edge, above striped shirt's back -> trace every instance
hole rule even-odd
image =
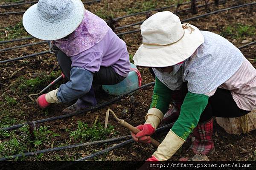
[[[255,26],[237,24],[236,26],[227,26],[221,31],[221,36],[232,39],[240,39],[255,35]]]

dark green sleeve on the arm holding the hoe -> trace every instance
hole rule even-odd
[[[169,108],[172,97],[172,90],[164,85],[156,77],[156,84],[154,85],[154,91],[152,96],[152,102],[150,108],[157,108],[165,114]]]

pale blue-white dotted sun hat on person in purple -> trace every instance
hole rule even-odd
[[[58,40],[71,34],[84,18],[81,0],[39,0],[23,15],[23,26],[41,40]]]

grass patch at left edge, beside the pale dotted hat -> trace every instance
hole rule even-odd
[[[0,41],[11,40],[19,38],[22,35],[27,34],[22,22],[17,23],[15,26],[9,26],[1,29],[0,31]],[[7,37],[6,37],[7,35]]]

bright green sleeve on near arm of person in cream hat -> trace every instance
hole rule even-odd
[[[208,104],[209,97],[204,94],[188,92],[180,109],[180,116],[172,127],[172,131],[186,140],[197,126],[201,113]]]

